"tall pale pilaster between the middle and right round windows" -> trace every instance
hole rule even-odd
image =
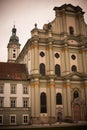
[[[67,44],[65,44],[65,72],[66,74],[70,72],[69,49]]]

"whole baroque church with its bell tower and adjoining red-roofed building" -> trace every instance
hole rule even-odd
[[[17,29],[0,62],[0,125],[87,120],[87,24],[81,7],[54,7],[55,18],[20,52]]]

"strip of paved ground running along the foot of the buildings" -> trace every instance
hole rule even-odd
[[[79,121],[77,123],[55,123],[55,124],[43,124],[43,125],[21,125],[21,126],[0,126],[0,129],[16,129],[16,128],[41,128],[41,127],[67,127],[67,126],[81,126],[81,125],[87,125],[87,121]]]

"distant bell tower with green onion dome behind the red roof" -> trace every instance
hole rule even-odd
[[[12,28],[12,35],[9,39],[9,43],[7,45],[8,48],[8,62],[15,62],[19,53],[20,53],[20,43],[19,38],[16,36],[17,29],[15,25]]]

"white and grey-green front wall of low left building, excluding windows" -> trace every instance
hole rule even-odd
[[[31,90],[29,83],[26,81],[0,81],[3,86],[3,93],[0,93],[0,98],[3,98],[3,106],[0,107],[0,116],[3,117],[3,122],[0,125],[20,125],[29,124],[31,116]],[[15,85],[16,93],[11,93],[11,86]],[[23,92],[23,87],[28,87],[28,93]],[[11,107],[11,99],[16,99],[16,106]],[[28,99],[28,107],[23,106],[23,99]],[[11,116],[15,116],[15,123],[11,123]],[[24,116],[27,116],[27,123],[24,122]]]

